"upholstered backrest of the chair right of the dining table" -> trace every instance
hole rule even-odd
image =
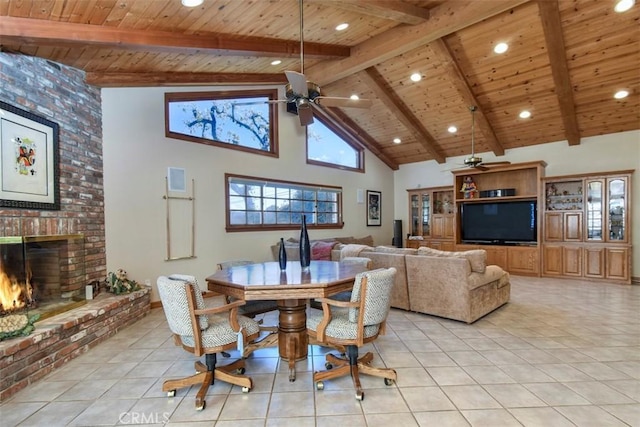
[[[364,326],[378,325],[384,322],[391,307],[391,289],[396,276],[395,268],[380,268],[372,271],[365,271],[356,275],[351,292],[351,302],[360,302],[364,297]],[[362,292],[363,280],[366,277],[366,292]],[[358,322],[359,308],[349,309],[349,321]]]

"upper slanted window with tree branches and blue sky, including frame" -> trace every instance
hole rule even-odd
[[[165,134],[277,157],[277,90],[165,94]]]

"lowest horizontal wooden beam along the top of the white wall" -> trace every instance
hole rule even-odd
[[[284,73],[118,73],[88,72],[87,84],[98,87],[286,84]]]

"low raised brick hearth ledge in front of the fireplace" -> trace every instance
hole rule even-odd
[[[27,337],[0,342],[0,402],[149,313],[151,288],[101,293],[87,304],[36,322]]]

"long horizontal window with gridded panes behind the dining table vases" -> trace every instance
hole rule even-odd
[[[227,231],[342,228],[342,188],[225,174]]]

